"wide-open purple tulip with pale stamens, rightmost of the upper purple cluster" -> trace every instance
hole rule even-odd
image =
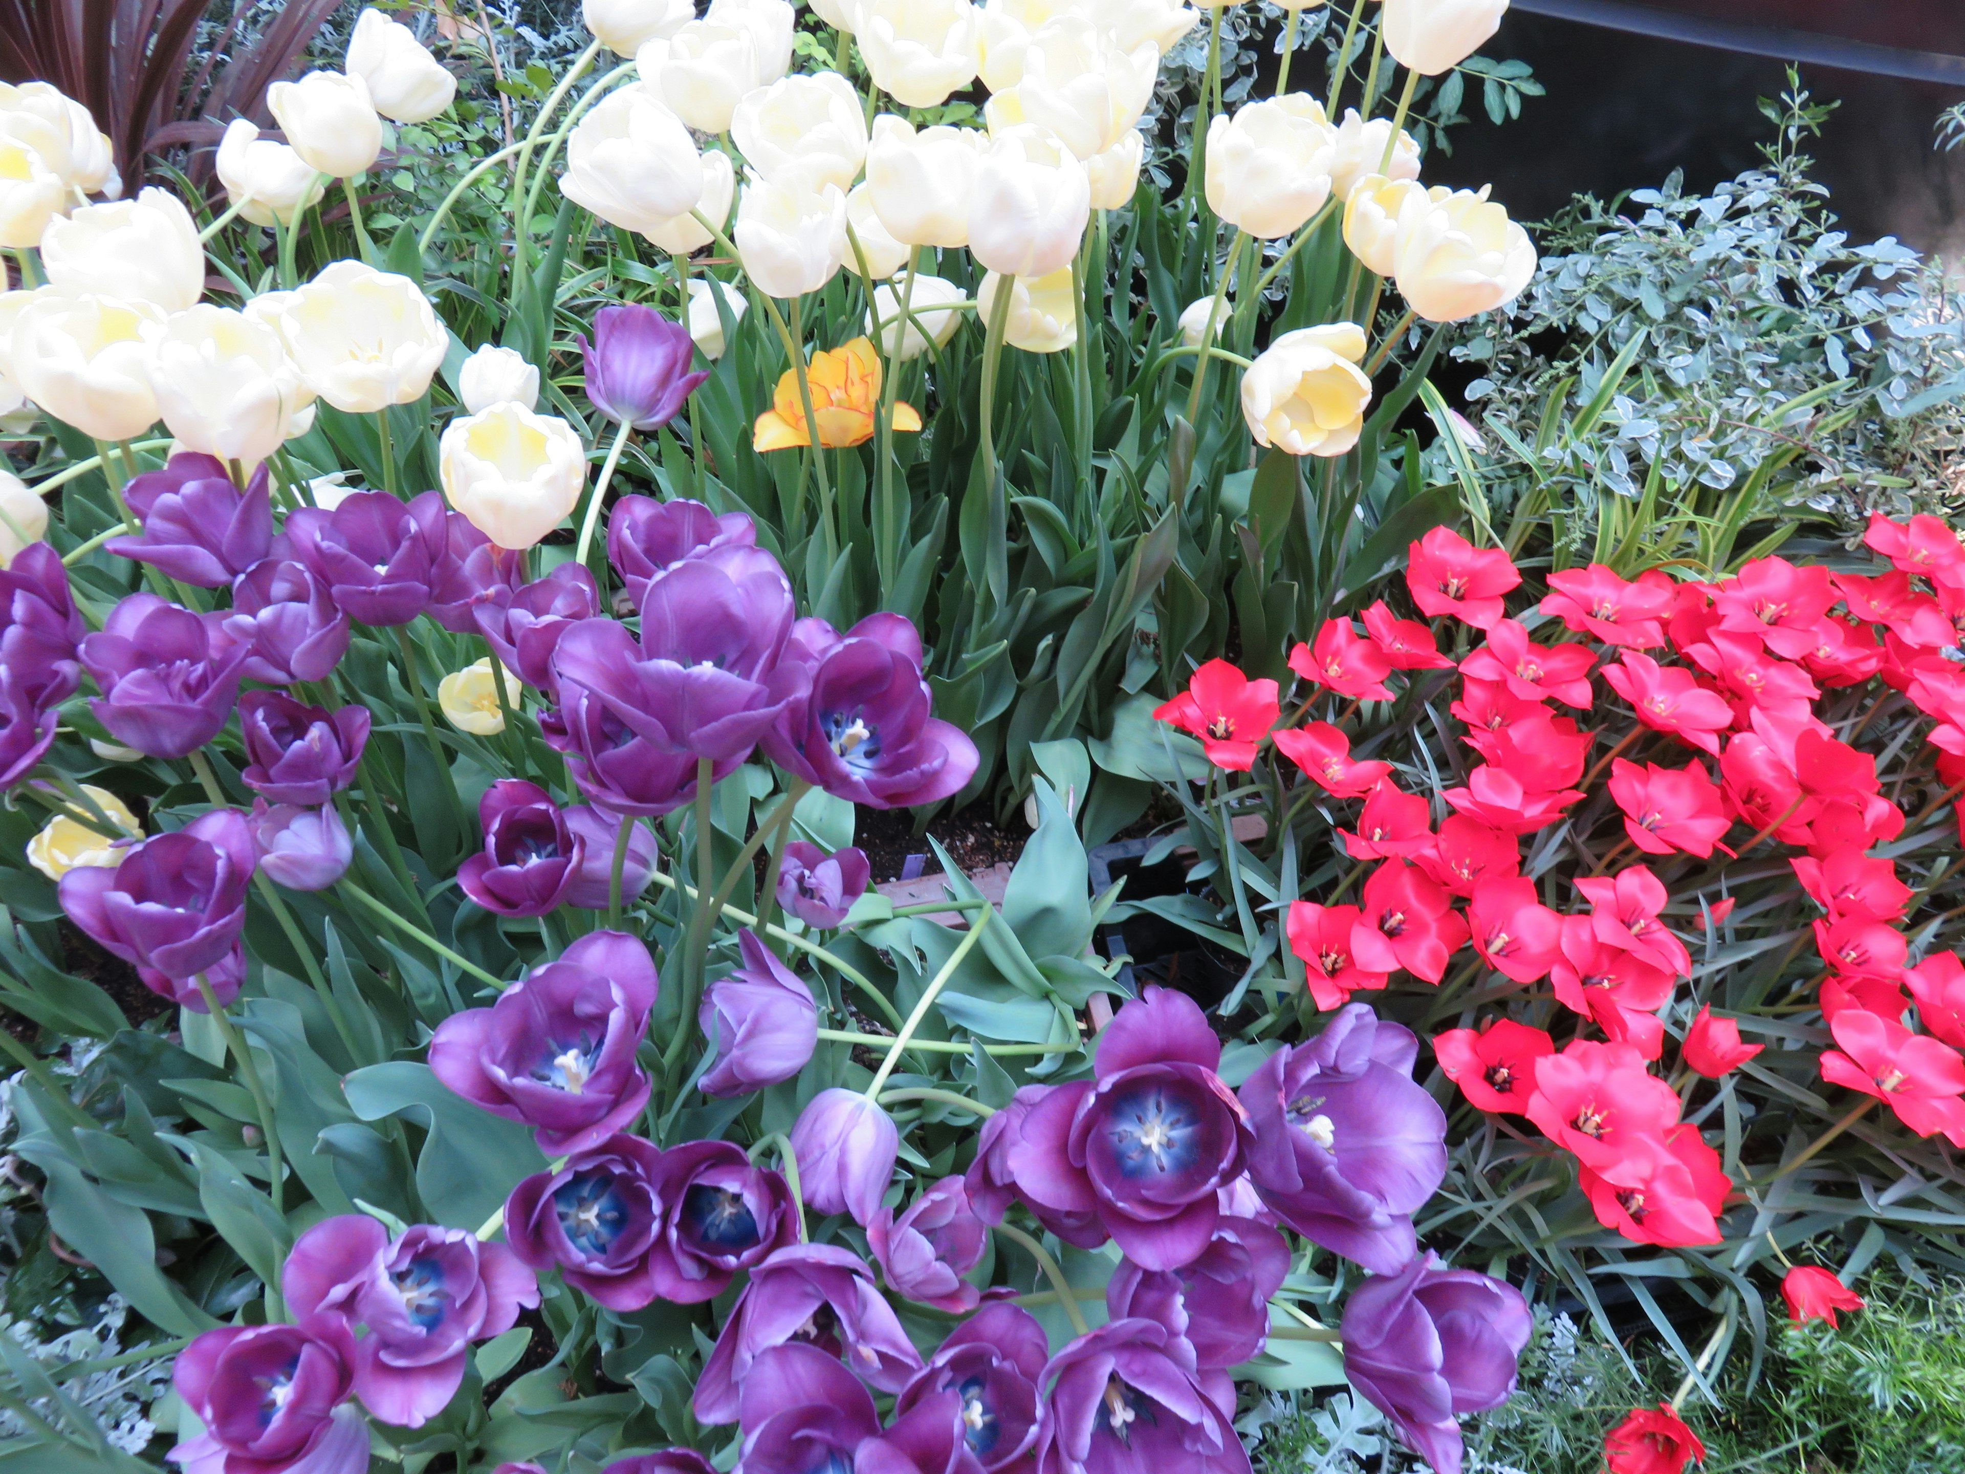
[[[912,808],[975,776],[977,745],[927,713],[922,637],[900,615],[869,615],[845,635],[800,619],[770,684],[784,709],[764,753],[835,798]]]

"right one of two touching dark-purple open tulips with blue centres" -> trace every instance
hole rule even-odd
[[[731,1142],[684,1142],[654,1175],[662,1226],[648,1250],[654,1293],[694,1305],[739,1270],[798,1242],[798,1203],[782,1173],[753,1167]]]

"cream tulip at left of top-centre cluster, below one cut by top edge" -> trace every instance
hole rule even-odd
[[[623,86],[574,124],[560,193],[611,226],[650,230],[702,200],[703,157],[682,118]]]

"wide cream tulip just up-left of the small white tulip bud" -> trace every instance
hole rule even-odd
[[[450,350],[422,289],[362,261],[334,261],[273,314],[301,381],[346,415],[421,399]]]

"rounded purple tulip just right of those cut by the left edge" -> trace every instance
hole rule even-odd
[[[198,615],[132,594],[83,639],[83,668],[102,696],[88,702],[110,737],[147,757],[185,757],[216,737],[238,698],[246,651]]]

